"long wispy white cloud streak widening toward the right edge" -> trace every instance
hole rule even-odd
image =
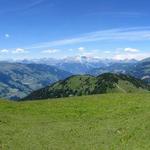
[[[40,49],[53,46],[80,44],[96,41],[145,41],[150,40],[150,27],[118,28],[90,32],[75,38],[33,44],[26,49]]]

